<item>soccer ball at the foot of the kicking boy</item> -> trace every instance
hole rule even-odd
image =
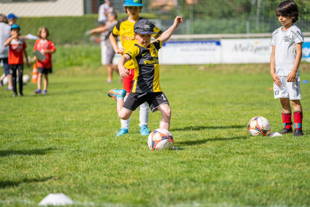
[[[155,129],[148,135],[148,147],[153,150],[171,150],[173,136],[166,129]]]

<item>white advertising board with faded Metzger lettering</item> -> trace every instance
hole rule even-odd
[[[271,38],[221,39],[221,63],[269,63]]]

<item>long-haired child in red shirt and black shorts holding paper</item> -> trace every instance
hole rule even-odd
[[[39,39],[34,43],[33,51],[38,50],[45,55],[44,60],[39,60],[36,56],[38,67],[38,89],[34,90],[34,93],[41,93],[42,75],[44,73],[44,83],[42,94],[47,93],[48,74],[52,72],[52,53],[56,51],[54,43],[47,39],[49,36],[48,29],[44,26],[40,27],[37,36]]]

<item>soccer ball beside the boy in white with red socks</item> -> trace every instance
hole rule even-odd
[[[266,136],[270,133],[270,123],[262,116],[253,117],[248,124],[248,132],[252,136]]]

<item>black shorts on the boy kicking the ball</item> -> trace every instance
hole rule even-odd
[[[165,94],[163,92],[152,92],[152,93],[129,93],[123,108],[134,111],[138,106],[144,102],[148,103],[152,112],[157,111],[157,107],[162,104],[169,104]]]

